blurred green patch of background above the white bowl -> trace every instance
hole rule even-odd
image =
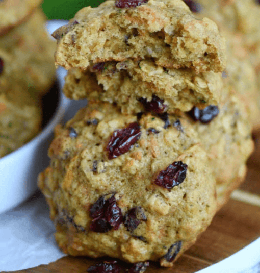
[[[102,2],[102,0],[44,0],[42,8],[49,20],[69,20],[81,8],[97,7]]]

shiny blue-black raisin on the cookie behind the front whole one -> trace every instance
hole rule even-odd
[[[188,114],[195,120],[201,123],[211,122],[218,114],[219,109],[215,105],[209,105],[205,109],[200,110],[198,107],[193,107]]]

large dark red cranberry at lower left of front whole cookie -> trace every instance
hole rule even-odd
[[[121,209],[116,205],[115,194],[110,198],[101,196],[90,208],[90,216],[93,218],[90,230],[94,232],[108,232],[114,227],[118,230],[123,222]]]

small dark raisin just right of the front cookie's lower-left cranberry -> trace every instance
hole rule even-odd
[[[133,232],[138,227],[141,220],[146,219],[147,218],[141,207],[132,208],[128,210],[124,216],[124,226],[126,227],[127,231]]]

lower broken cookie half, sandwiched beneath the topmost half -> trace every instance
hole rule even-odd
[[[197,74],[192,69],[166,69],[153,61],[128,60],[99,63],[90,70],[72,68],[63,91],[73,99],[93,96],[90,93],[96,91],[102,101],[116,102],[122,113],[143,112],[147,104],[159,102],[158,111],[170,113],[199,104],[217,105],[222,82],[221,73]]]

